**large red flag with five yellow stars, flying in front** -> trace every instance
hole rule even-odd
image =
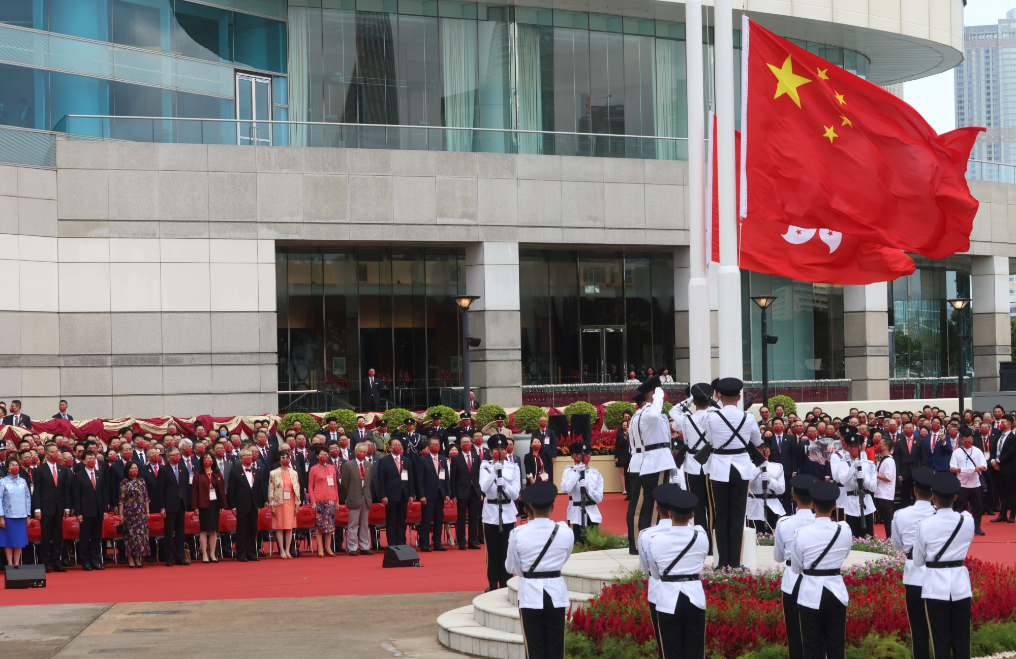
[[[971,127],[938,135],[916,110],[747,16],[741,216],[941,259],[970,247]]]

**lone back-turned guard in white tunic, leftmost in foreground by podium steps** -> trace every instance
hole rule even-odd
[[[539,480],[522,490],[528,524],[511,530],[504,568],[518,575],[518,613],[527,659],[564,659],[568,587],[561,568],[574,542],[564,522],[551,521],[558,488]]]

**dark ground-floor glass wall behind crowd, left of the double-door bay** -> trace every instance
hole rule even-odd
[[[361,408],[377,372],[390,406],[423,409],[461,386],[464,252],[416,248],[276,251],[279,391],[328,392]],[[341,402],[340,402],[341,401]],[[382,401],[384,402],[384,401]]]

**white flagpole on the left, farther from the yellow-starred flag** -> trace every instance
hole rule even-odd
[[[702,90],[702,0],[686,0],[688,62],[688,219],[691,278],[688,280],[689,384],[712,380],[709,336],[709,280],[705,241],[705,136]]]

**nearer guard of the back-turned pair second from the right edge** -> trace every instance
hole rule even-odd
[[[805,659],[843,659],[846,652],[846,603],[849,596],[840,570],[853,539],[846,522],[832,521],[839,490],[823,480],[808,488],[815,521],[798,529],[790,567],[801,575],[798,614]]]

